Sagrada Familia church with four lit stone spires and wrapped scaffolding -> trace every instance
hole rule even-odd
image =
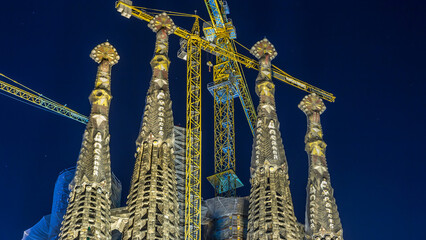
[[[119,56],[105,42],[90,54],[99,66],[77,166],[58,179],[58,189],[65,190],[54,197],[52,214],[25,231],[23,239],[186,239],[182,211],[184,176],[180,176],[182,156],[178,157],[182,148],[178,135],[184,129],[174,127],[168,82],[168,38],[176,27],[166,14],[155,16],[148,26],[156,33],[152,78],[136,140],[136,161],[126,206],[119,203],[121,184],[111,172],[109,153],[111,69]],[[306,217],[305,224],[301,224],[294,214],[271,79],[271,61],[277,53],[267,39],[257,42],[251,53],[259,59],[260,67],[255,85],[259,104],[250,166],[250,196],[206,200],[203,237],[343,240],[320,122],[325,105],[315,94],[307,95],[299,104],[307,117],[305,150],[309,159]],[[232,207],[227,208],[226,204]]]

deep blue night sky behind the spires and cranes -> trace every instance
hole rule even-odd
[[[228,1],[237,40],[250,48],[265,36],[273,64],[336,96],[322,115],[332,186],[344,238],[419,239],[426,213],[426,4],[421,0]],[[202,0],[135,0],[134,5],[198,14]],[[172,17],[190,30],[193,19]],[[128,194],[155,34],[146,22],[126,19],[114,1],[7,1],[0,7],[0,72],[88,115],[97,64],[89,58],[109,42],[121,60],[112,71],[110,114],[113,172]],[[174,121],[185,126],[186,62],[170,37]],[[254,58],[245,50],[241,53]],[[214,196],[212,81],[203,52],[203,197]],[[257,72],[244,69],[255,106]],[[4,81],[5,79],[1,79]],[[306,119],[297,105],[307,94],[275,81],[278,118],[298,220],[304,222]],[[0,239],[21,239],[50,213],[58,173],[75,166],[85,126],[0,96]],[[237,175],[250,191],[252,136],[235,101]],[[423,146],[423,147],[422,147]]]

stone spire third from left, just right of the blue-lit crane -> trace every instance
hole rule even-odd
[[[256,93],[260,103],[250,167],[247,239],[301,239],[275,111],[275,86],[271,81],[271,60],[277,52],[267,39],[263,39],[252,47],[251,53],[259,59]]]

